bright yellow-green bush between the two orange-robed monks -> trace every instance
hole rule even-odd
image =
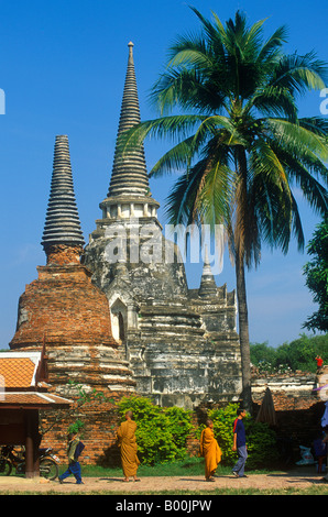
[[[163,409],[144,397],[124,397],[118,405],[123,417],[133,411],[138,425],[138,454],[143,464],[154,465],[182,460],[186,439],[193,429],[192,414],[182,408]]]

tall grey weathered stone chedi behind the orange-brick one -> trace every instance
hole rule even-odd
[[[199,289],[188,288],[178,248],[157,219],[143,145],[120,148],[120,134],[139,121],[130,43],[109,191],[84,263],[109,300],[112,332],[125,348],[139,394],[185,407],[238,398],[234,292],[216,286],[207,261]]]

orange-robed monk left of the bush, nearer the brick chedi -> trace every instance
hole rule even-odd
[[[140,481],[136,477],[138,466],[140,465],[140,461],[136,455],[136,424],[132,418],[132,411],[127,411],[125,421],[120,425],[117,432],[119,448],[121,450],[122,469],[125,476],[123,480],[124,482],[130,481],[130,477],[133,477],[134,481]]]

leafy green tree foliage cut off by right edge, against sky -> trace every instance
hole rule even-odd
[[[313,261],[304,266],[306,285],[314,293],[314,301],[319,305],[316,312],[304,323],[309,330],[328,331],[328,217],[318,224],[307,248]]]

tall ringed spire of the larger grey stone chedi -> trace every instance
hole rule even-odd
[[[128,70],[124,82],[123,99],[118,130],[119,135],[140,123],[140,108],[133,62],[133,43],[129,43]],[[121,150],[116,146],[112,175],[108,197],[150,195],[149,177],[143,144],[121,156]]]

